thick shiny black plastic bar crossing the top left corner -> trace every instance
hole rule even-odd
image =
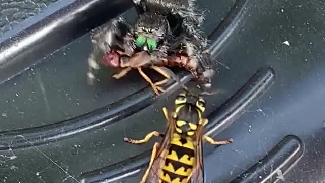
[[[0,38],[0,83],[131,7],[131,0],[64,0],[20,23]]]

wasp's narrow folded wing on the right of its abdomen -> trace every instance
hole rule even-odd
[[[193,165],[192,173],[187,180],[188,183],[203,183],[203,157],[202,157],[202,136],[204,128],[199,126],[196,133],[196,149],[195,149],[195,162]]]

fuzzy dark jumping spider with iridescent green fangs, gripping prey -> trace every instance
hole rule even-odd
[[[184,67],[196,76],[197,80],[209,86],[214,70],[211,68],[209,53],[204,51],[207,47],[206,36],[201,31],[204,13],[198,13],[195,2],[133,0],[138,13],[134,25],[119,17],[92,35],[93,52],[88,58],[87,73],[89,83],[93,84],[95,72],[100,69],[98,63],[101,61],[109,66],[124,68],[113,75],[116,79],[123,77],[131,68],[137,68],[156,94],[158,90],[164,91],[159,85],[166,83],[170,78],[170,73],[161,69],[161,66]],[[137,60],[136,64],[131,63],[131,59],[120,59],[122,56],[132,58],[144,51],[149,57],[139,58],[141,62]],[[178,56],[179,59],[169,59],[170,55]],[[187,59],[183,59],[184,56]],[[152,68],[167,79],[152,83],[141,71],[141,67]]]

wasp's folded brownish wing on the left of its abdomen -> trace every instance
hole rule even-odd
[[[168,113],[166,116],[168,119],[168,127],[163,142],[161,142],[157,151],[156,157],[153,160],[152,166],[148,167],[149,173],[146,178],[146,183],[158,183],[159,171],[165,165],[166,155],[168,154],[168,148],[170,146],[170,140],[173,137],[175,119],[172,117],[172,113]]]

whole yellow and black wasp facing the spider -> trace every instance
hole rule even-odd
[[[153,131],[144,139],[125,137],[124,141],[141,144],[153,136],[163,137],[161,143],[154,143],[150,163],[140,183],[203,183],[203,141],[213,145],[233,142],[233,139],[215,141],[204,135],[208,119],[203,117],[205,101],[202,96],[180,93],[175,99],[174,111],[163,108],[168,128],[165,134]]]

